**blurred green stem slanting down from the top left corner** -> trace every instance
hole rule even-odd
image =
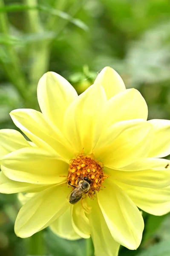
[[[3,0],[0,0],[0,8],[3,6]],[[0,13],[0,32],[6,36],[9,35],[9,22],[5,12]],[[21,71],[17,53],[11,44],[6,44],[6,46],[4,46],[4,51],[8,56],[9,61],[3,61],[3,59],[0,59],[0,62],[6,72],[6,75],[9,77],[9,80],[12,81],[12,84],[14,84],[22,99],[27,101],[29,99],[29,94],[26,93],[26,80]]]

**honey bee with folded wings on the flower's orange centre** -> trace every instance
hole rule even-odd
[[[72,186],[75,188],[72,192],[69,193],[67,198],[69,198],[70,204],[76,204],[84,194],[89,192],[90,189],[90,184],[92,181],[88,177],[81,177],[81,182],[80,178],[78,179],[78,186],[73,186],[70,184],[70,181],[68,182],[69,186]]]

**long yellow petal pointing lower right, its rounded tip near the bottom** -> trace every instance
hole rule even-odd
[[[98,204],[113,239],[130,250],[141,243],[144,221],[133,201],[111,180],[98,195]]]

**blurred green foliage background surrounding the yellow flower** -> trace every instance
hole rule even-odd
[[[9,112],[38,110],[37,82],[55,71],[83,92],[113,67],[144,96],[149,119],[170,119],[169,0],[0,0],[0,128]],[[0,256],[86,256],[86,241],[46,229],[29,239],[14,234],[16,195],[0,194]],[[170,215],[143,212],[141,246],[119,256],[170,256]],[[101,255],[102,256],[102,255]]]

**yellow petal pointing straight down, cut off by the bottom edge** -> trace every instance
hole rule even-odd
[[[95,256],[118,256],[120,244],[111,236],[96,198],[89,199],[91,213],[88,214]]]

